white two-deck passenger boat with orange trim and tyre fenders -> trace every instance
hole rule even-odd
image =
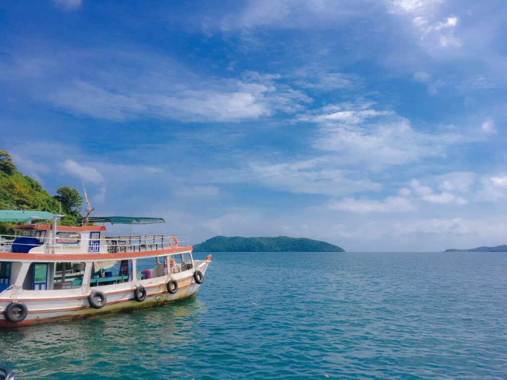
[[[0,326],[164,305],[196,294],[204,281],[211,255],[194,260],[188,236],[106,236],[106,223],[142,228],[162,218],[90,217],[69,227],[58,225],[61,217],[0,212],[0,221],[26,223],[0,236]],[[33,223],[40,218],[48,222]]]

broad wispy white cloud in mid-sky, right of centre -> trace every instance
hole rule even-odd
[[[333,151],[343,163],[367,162],[375,167],[444,156],[449,146],[471,140],[456,134],[416,131],[407,119],[393,111],[376,110],[372,103],[340,103],[297,120],[319,124],[314,148]]]

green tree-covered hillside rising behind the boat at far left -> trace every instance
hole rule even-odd
[[[0,150],[0,209],[23,209],[32,211],[49,211],[58,214],[61,201],[62,225],[75,225],[83,199],[77,190],[70,187],[57,189],[59,195],[50,196],[41,184],[18,171],[9,153]],[[68,196],[73,198],[68,200]],[[0,234],[12,233],[12,223],[0,222]]]

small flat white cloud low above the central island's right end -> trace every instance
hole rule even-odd
[[[415,210],[410,200],[404,197],[387,197],[383,201],[345,198],[341,201],[330,203],[328,208],[331,210],[349,211],[361,214],[369,212],[407,212]]]

